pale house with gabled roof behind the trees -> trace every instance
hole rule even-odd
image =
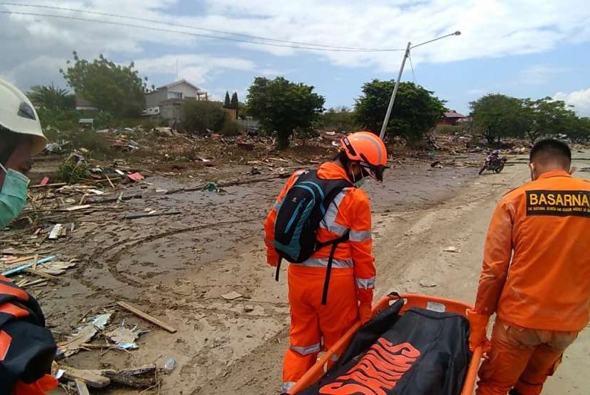
[[[187,80],[180,80],[156,88],[146,94],[144,116],[159,116],[170,121],[180,121],[178,109],[183,100],[208,100],[209,95]]]

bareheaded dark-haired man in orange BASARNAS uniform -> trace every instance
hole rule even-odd
[[[493,215],[470,347],[489,348],[476,394],[541,394],[589,320],[590,183],[570,175],[556,140],[530,151],[532,182],[506,194]],[[488,319],[496,314],[490,342]]]

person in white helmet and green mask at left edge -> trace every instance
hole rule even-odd
[[[47,139],[31,101],[0,80],[0,232],[26,204],[32,157]],[[0,394],[41,395],[55,389],[50,375],[57,345],[35,298],[0,274]]]

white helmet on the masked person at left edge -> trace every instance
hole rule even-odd
[[[4,80],[0,80],[0,126],[14,133],[33,136],[32,155],[43,151],[47,144],[47,138],[43,135],[41,122],[31,100],[17,87]],[[2,136],[0,141],[1,139]]]

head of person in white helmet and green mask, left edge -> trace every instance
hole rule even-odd
[[[47,139],[26,95],[0,80],[0,231],[23,210],[33,165]]]

